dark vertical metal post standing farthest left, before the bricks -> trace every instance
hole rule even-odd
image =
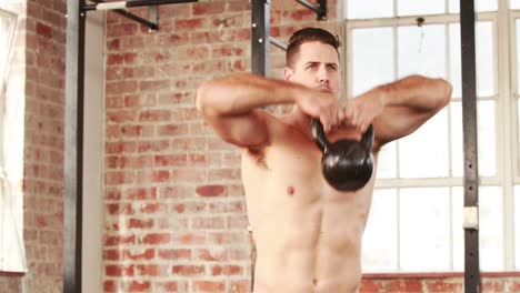
[[[64,101],[63,292],[81,293],[84,0],[68,1]]]

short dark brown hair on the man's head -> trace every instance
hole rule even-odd
[[[333,36],[327,30],[320,28],[303,28],[296,31],[289,39],[289,44],[286,52],[286,65],[291,67],[294,62],[294,57],[300,51],[300,47],[306,42],[321,42],[330,44],[338,52],[338,48],[341,46],[338,36]],[[339,52],[338,52],[339,57]]]

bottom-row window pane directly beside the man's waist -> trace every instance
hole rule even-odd
[[[363,235],[364,272],[398,269],[397,190],[374,190],[370,216]]]

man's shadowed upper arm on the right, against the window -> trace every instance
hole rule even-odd
[[[381,148],[386,143],[411,134],[434,114],[417,112],[408,107],[386,109],[373,120],[376,145]]]

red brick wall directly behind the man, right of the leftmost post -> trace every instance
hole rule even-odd
[[[272,2],[281,40],[308,24],[338,30],[292,0]],[[250,71],[250,4],[159,11],[157,33],[107,19],[104,291],[249,292],[240,156],[204,125],[194,95],[203,80]],[[271,52],[280,78],[283,52]]]

